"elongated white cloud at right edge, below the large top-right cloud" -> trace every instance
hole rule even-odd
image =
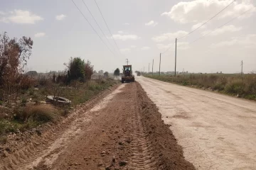
[[[234,37],[231,40],[218,42],[210,45],[210,47],[217,48],[217,47],[231,47],[239,45],[242,47],[247,48],[255,48],[256,47],[256,34],[249,34],[243,37]]]

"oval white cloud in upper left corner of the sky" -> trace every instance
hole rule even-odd
[[[41,21],[43,18],[31,13],[30,11],[14,10],[11,11],[11,16],[7,17],[6,20],[12,23],[36,23],[36,21]]]

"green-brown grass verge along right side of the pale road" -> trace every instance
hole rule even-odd
[[[232,96],[239,95],[256,101],[256,74],[182,74],[173,75],[151,75],[144,77],[166,81],[183,86],[196,86],[197,88],[209,88],[223,94]]]

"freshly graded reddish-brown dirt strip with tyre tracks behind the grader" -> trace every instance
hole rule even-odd
[[[45,151],[5,169],[195,169],[138,83],[122,84],[93,106],[56,131]]]

